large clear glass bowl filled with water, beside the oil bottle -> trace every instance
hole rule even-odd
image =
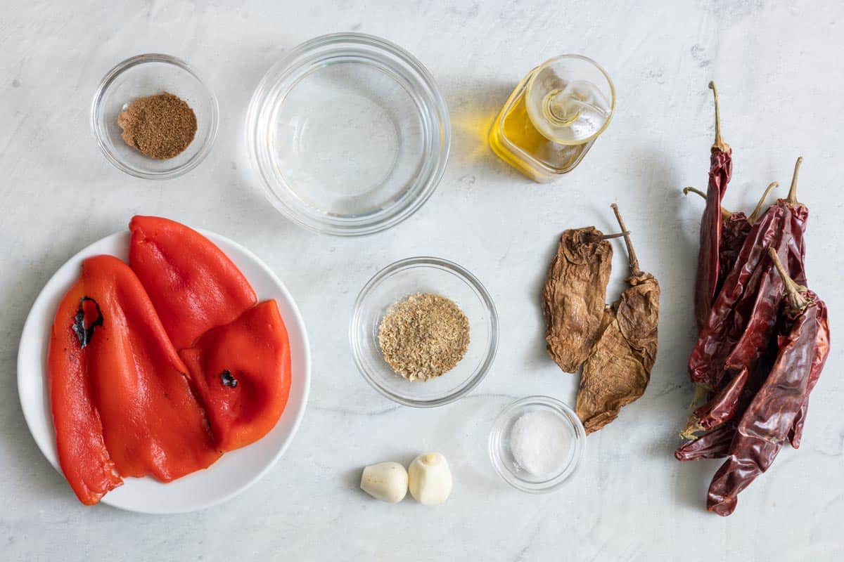
[[[363,236],[410,217],[446,169],[451,125],[434,78],[372,35],[322,35],[258,84],[246,144],[265,195],[290,221]]]

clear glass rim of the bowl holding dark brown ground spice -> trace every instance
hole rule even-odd
[[[111,83],[122,74],[122,72],[128,70],[129,68],[136,67],[141,64],[145,64],[147,62],[164,62],[166,64],[171,64],[176,67],[180,67],[182,70],[188,72],[192,75],[193,78],[197,79],[197,82],[202,86],[203,90],[206,94],[208,94],[208,99],[211,100],[210,104],[210,115],[211,120],[208,123],[208,136],[206,136],[203,146],[199,148],[199,151],[192,156],[186,163],[181,164],[180,166],[176,166],[174,169],[167,170],[165,172],[145,172],[143,170],[130,168],[120,158],[117,158],[114,153],[106,146],[106,142],[103,140],[102,131],[100,131],[100,127],[97,124],[97,115],[100,110],[100,102],[102,101],[103,95],[106,93],[106,90],[111,86]],[[106,76],[100,80],[100,85],[97,86],[97,89],[94,93],[94,99],[91,101],[91,130],[94,131],[94,137],[97,141],[97,146],[100,147],[100,151],[102,151],[103,155],[106,157],[111,165],[113,165],[116,169],[121,170],[129,175],[133,175],[136,178],[143,178],[143,179],[171,179],[177,178],[182,174],[187,174],[192,169],[196,168],[199,163],[201,163],[208,153],[211,152],[211,147],[214,146],[214,140],[217,138],[217,127],[218,127],[218,120],[219,120],[219,105],[217,103],[217,97],[214,96],[214,92],[211,91],[211,88],[208,88],[208,84],[203,82],[202,78],[199,78],[197,72],[191,67],[187,62],[182,61],[180,58],[172,55],[165,55],[163,53],[143,53],[141,55],[130,56],[125,61],[118,62],[115,67],[111,68],[109,72],[106,72]]]

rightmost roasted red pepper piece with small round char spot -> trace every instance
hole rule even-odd
[[[279,420],[290,391],[290,345],[275,301],[210,329],[181,350],[221,451],[256,442]]]

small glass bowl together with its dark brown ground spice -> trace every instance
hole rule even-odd
[[[97,144],[116,168],[169,179],[194,169],[217,134],[214,94],[175,56],[133,56],[112,68],[91,104]]]

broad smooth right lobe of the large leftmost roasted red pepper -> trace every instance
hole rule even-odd
[[[117,472],[169,482],[214,463],[220,453],[187,367],[138,277],[121,260],[100,255],[83,262],[82,281],[103,316],[84,351]]]

